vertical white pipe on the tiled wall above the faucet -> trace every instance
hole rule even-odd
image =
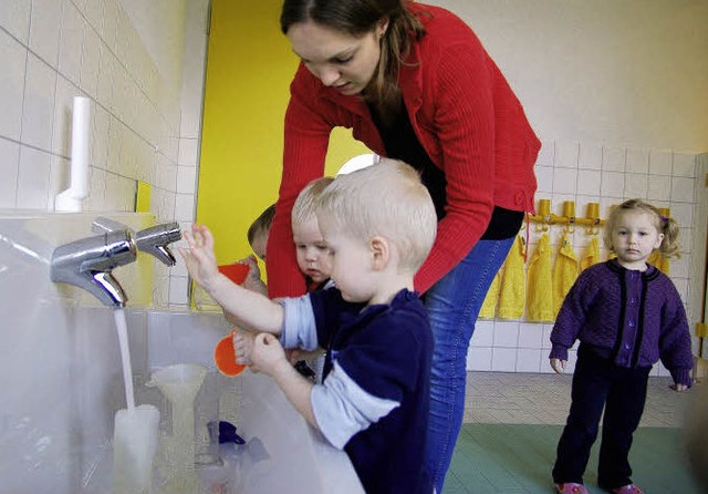
[[[71,124],[71,183],[54,199],[56,212],[80,212],[88,195],[88,137],[91,132],[91,100],[74,97]]]

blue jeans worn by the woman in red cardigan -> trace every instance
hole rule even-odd
[[[438,494],[452,459],[465,412],[467,350],[489,286],[514,237],[479,240],[425,294],[435,349],[430,380],[427,464]]]

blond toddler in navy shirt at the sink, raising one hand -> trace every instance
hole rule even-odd
[[[435,240],[437,218],[417,173],[391,159],[337,177],[316,205],[336,288],[280,302],[220,275],[205,226],[179,249],[192,278],[241,327],[241,362],[271,375],[295,409],[344,449],[367,493],[433,491],[425,431],[433,335],[413,276]],[[280,337],[280,340],[273,335]],[[324,380],[313,384],[282,346],[327,349]]]

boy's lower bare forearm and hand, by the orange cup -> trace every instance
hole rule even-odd
[[[246,338],[239,339],[238,335],[235,337],[237,354],[239,354],[239,351],[246,351],[244,344],[248,344]],[[312,402],[310,401],[314,384],[300,375],[288,361],[278,338],[263,332],[256,336],[252,340],[250,362],[253,371],[263,372],[273,378],[295,410],[300,412],[310,425],[319,429],[312,411]]]

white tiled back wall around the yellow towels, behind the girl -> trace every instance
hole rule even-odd
[[[537,199],[551,199],[552,213],[563,214],[563,202],[575,202],[575,215],[585,216],[587,203],[600,203],[601,217],[606,218],[612,205],[624,199],[641,197],[657,207],[670,208],[670,215],[680,226],[681,258],[671,260],[670,276],[686,302],[689,326],[699,317],[700,307],[695,301],[702,288],[700,277],[691,279],[691,253],[695,236],[706,235],[705,218],[695,220],[698,156],[666,150],[636,150],[597,143],[570,143],[544,141],[539,155]],[[558,251],[562,226],[548,229]],[[540,226],[529,225],[529,255],[537,247],[542,231]],[[525,236],[525,231],[522,230]],[[584,227],[576,227],[570,236],[573,250],[580,259],[593,235]],[[601,244],[601,257],[607,253]],[[705,256],[702,251],[697,254]],[[691,292],[693,290],[693,292]],[[694,306],[694,307],[691,307]],[[552,323],[521,320],[479,320],[468,353],[468,369],[509,372],[553,372],[548,363]],[[571,351],[569,370],[575,363]],[[667,374],[658,366],[655,373]]]

